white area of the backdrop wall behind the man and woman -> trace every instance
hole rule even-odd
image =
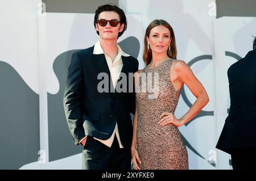
[[[56,56],[68,50],[88,48],[98,40],[92,25],[94,15],[47,13],[46,16],[40,16],[40,2],[11,0],[1,2],[0,6],[0,61],[11,65],[28,87],[40,95],[38,134],[40,149],[45,151],[45,162],[35,161],[20,169],[81,169],[81,154],[48,161],[47,92],[56,94],[60,88],[52,67]],[[187,147],[189,169],[232,169],[229,155],[215,148],[228,115],[226,71],[237,61],[234,57],[244,57],[252,49],[251,35],[256,35],[256,18],[224,17],[216,20],[212,2],[214,1],[119,0],[119,6],[127,14],[128,28],[118,41],[129,36],[139,40],[140,69],[144,67],[144,31],[154,19],[167,20],[174,28],[178,59],[189,64],[194,58],[204,56],[201,57],[202,60],[198,58],[200,61],[192,64],[191,68],[210,98],[203,110],[213,112],[213,115],[201,116],[179,128],[191,146]],[[195,97],[187,87],[184,87],[184,91],[188,102],[193,103]],[[181,96],[176,116],[182,116],[188,109],[189,106]],[[209,159],[213,159],[215,164],[210,164]]]

